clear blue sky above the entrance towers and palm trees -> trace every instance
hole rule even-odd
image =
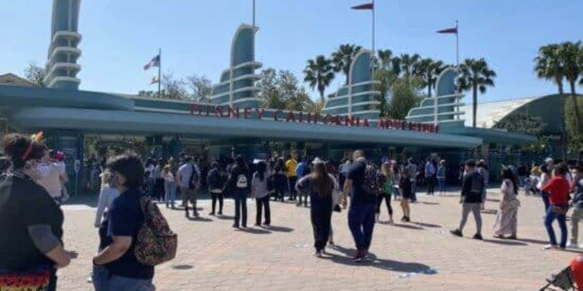
[[[339,44],[371,46],[371,13],[350,6],[368,0],[257,0],[256,59],[303,79],[308,58]],[[79,32],[82,90],[136,94],[154,70],[142,66],[162,48],[163,72],[202,74],[213,83],[229,63],[231,38],[251,22],[251,0],[83,0]],[[459,20],[461,59],[486,58],[498,77],[482,101],[555,93],[536,79],[541,45],[583,38],[581,0],[377,0],[376,48],[455,63],[455,36],[437,34]],[[50,0],[4,0],[0,73],[23,74],[29,61],[44,65],[51,28]],[[326,94],[342,80],[336,77]],[[579,89],[583,90],[583,89]],[[317,94],[313,94],[313,98]],[[469,94],[468,94],[469,96]]]

